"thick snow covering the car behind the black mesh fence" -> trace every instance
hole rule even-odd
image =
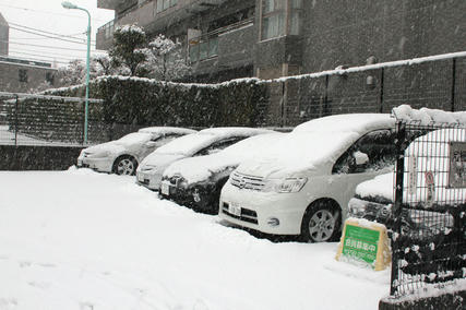
[[[432,171],[435,184],[433,200],[437,203],[446,203],[445,198],[455,198],[455,202],[466,200],[466,189],[450,189],[450,142],[466,140],[465,129],[441,129],[431,131],[426,135],[417,138],[405,151],[405,167],[409,167],[409,160],[416,157],[418,170],[416,174],[405,171],[404,180],[406,184],[409,178],[415,176],[416,189],[408,194],[406,186],[403,201],[414,203],[427,200],[427,184],[425,171]],[[394,172],[378,176],[372,180],[360,183],[356,188],[356,193],[361,198],[381,196],[394,201]],[[449,199],[450,200],[450,199]]]

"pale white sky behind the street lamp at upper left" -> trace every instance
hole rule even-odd
[[[81,10],[67,10],[62,0],[1,0],[0,13],[10,25],[9,56],[53,62],[65,65],[71,59],[86,57],[87,14]],[[92,55],[95,53],[95,34],[98,27],[113,19],[111,10],[97,9],[97,0],[72,0],[79,7],[87,9],[92,17]],[[28,28],[25,28],[28,27]],[[35,34],[45,31],[59,35],[71,35],[63,41]],[[45,34],[55,36],[52,34]],[[45,46],[45,47],[44,47]]]

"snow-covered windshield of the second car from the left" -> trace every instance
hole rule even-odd
[[[216,135],[212,133],[188,134],[160,146],[154,154],[190,156],[201,148],[208,146],[215,141],[215,138]]]

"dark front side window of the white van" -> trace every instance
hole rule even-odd
[[[379,171],[396,160],[394,130],[369,132],[356,141],[335,163],[333,174]],[[367,158],[362,160],[361,158]],[[359,162],[359,163],[358,163]]]

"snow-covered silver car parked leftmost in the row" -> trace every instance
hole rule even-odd
[[[162,145],[195,130],[175,127],[140,129],[121,139],[97,144],[81,151],[77,167],[100,172],[134,175],[139,163]]]

